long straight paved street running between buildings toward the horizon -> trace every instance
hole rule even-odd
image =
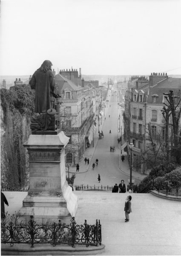
[[[110,95],[110,99],[109,99]],[[118,95],[117,93],[108,93],[108,105],[105,109],[105,117],[103,116],[102,125],[100,120],[100,131],[103,131],[104,137],[98,139],[98,131],[95,134],[94,148],[92,143],[83,156],[80,162],[80,172],[76,172],[76,168],[71,167],[70,172],[76,173],[74,185],[103,185],[114,186],[115,183],[120,183],[124,179],[126,186],[129,183],[129,166],[126,152],[122,151],[125,155],[124,162],[121,161],[121,145],[118,144],[118,137],[121,136],[124,131],[123,116],[120,107],[118,108]],[[121,113],[121,114],[120,114]],[[119,114],[121,116],[119,121]],[[110,115],[110,117],[109,117]],[[111,134],[109,134],[111,130]],[[123,136],[122,136],[123,137]],[[115,146],[115,152],[110,152],[110,146]],[[84,158],[87,157],[90,160],[89,166],[85,164]],[[95,165],[95,169],[92,169],[92,164],[95,163],[98,158],[98,166]],[[101,182],[98,182],[98,174],[101,176]],[[140,183],[141,179],[145,175],[140,175],[133,172],[134,183]]]

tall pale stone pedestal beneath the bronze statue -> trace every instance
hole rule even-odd
[[[47,220],[70,223],[78,208],[77,196],[66,181],[65,146],[69,138],[57,134],[30,135],[24,144],[29,153],[29,191],[20,209],[21,219],[30,215],[38,224]]]

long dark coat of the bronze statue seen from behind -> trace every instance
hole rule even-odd
[[[35,89],[35,113],[45,113],[51,108],[51,100],[54,101],[52,93],[55,88],[55,80],[51,70],[44,73],[40,69],[36,70],[29,81],[32,89]]]

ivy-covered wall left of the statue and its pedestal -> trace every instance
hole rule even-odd
[[[23,143],[31,134],[34,90],[29,85],[1,89],[1,189],[23,190],[29,186],[29,162]]]

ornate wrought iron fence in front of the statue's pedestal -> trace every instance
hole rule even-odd
[[[75,247],[76,244],[86,245],[101,245],[101,224],[100,220],[96,220],[95,225],[85,223],[77,225],[75,218],[69,225],[53,222],[52,224],[36,224],[33,216],[30,216],[28,224],[14,224],[12,221],[8,225],[1,222],[1,243],[14,244],[68,244]]]

